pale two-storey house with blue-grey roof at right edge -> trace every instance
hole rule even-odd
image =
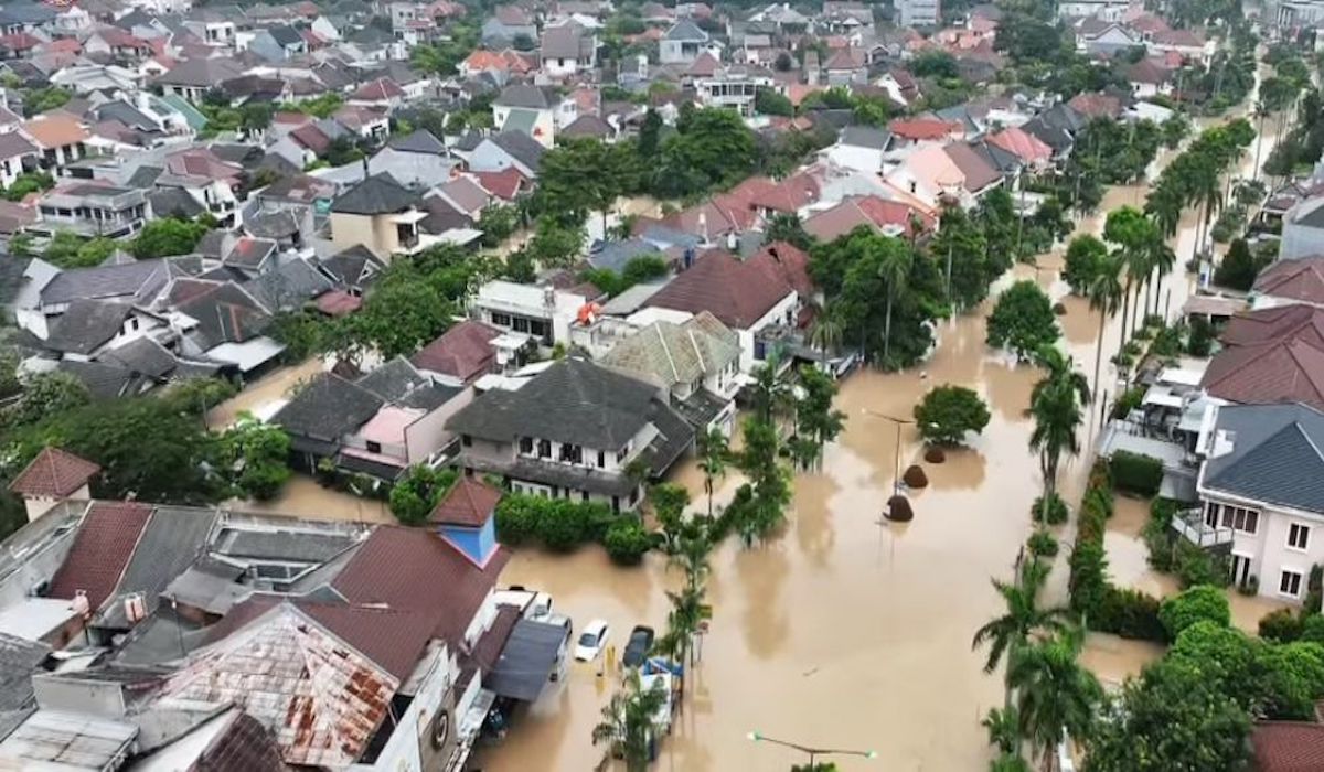
[[[1200,516],[1231,542],[1233,581],[1300,601],[1311,567],[1324,560],[1324,413],[1299,404],[1222,405],[1201,433]]]

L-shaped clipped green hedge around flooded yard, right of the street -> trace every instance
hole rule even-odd
[[[1112,482],[1110,465],[1095,462],[1080,499],[1076,542],[1071,550],[1071,608],[1084,617],[1092,630],[1123,638],[1164,641],[1168,636],[1158,621],[1158,599],[1113,587],[1108,581],[1103,532],[1112,516]]]

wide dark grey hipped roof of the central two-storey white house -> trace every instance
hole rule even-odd
[[[485,393],[455,413],[446,428],[499,442],[536,437],[613,450],[661,413],[674,410],[658,399],[657,387],[568,358],[518,391]]]

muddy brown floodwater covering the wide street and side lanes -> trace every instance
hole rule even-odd
[[[1268,140],[1262,158],[1268,155]],[[1174,154],[1165,154],[1166,163]],[[1242,173],[1250,176],[1247,158]],[[1099,215],[1079,230],[1102,230],[1112,208],[1144,204],[1144,187],[1112,188]],[[1184,270],[1196,245],[1197,216],[1188,212],[1173,240],[1177,270],[1162,282],[1160,309],[1169,318],[1194,289]],[[1067,314],[1061,319],[1063,346],[1092,375],[1099,318],[1079,298],[1066,297],[1058,278],[1061,249],[1042,256],[1038,269],[1017,266],[1017,278],[1034,278]],[[1010,281],[1012,277],[1004,279]],[[1144,293],[1141,293],[1144,297]],[[686,711],[658,763],[665,771],[786,769],[806,759],[747,734],[801,744],[876,751],[878,761],[834,757],[841,769],[978,769],[989,759],[980,716],[1001,704],[997,675],[984,675],[984,653],[970,651],[976,628],[998,612],[990,576],[1009,577],[1017,551],[1030,532],[1029,508],[1041,490],[1035,459],[1026,449],[1025,416],[1037,372],[1016,365],[984,343],[978,313],[940,323],[935,356],[900,373],[859,371],[843,384],[838,407],[849,416],[846,432],[826,449],[824,470],[798,474],[784,535],[765,546],[741,548],[733,539],[712,560],[711,633],[703,659],[687,683]],[[1106,324],[1103,391],[1115,393],[1107,364],[1119,344],[1120,314]],[[896,433],[869,412],[908,417],[932,387],[970,387],[988,400],[992,421],[973,446],[925,463],[931,485],[911,493],[915,520],[880,524],[891,491]],[[1096,432],[1082,433],[1088,453]],[[919,462],[920,444],[908,428],[900,436],[902,467]],[[1063,466],[1062,489],[1078,501],[1084,458]],[[675,473],[704,507],[702,477],[692,462]],[[719,485],[718,499],[737,485]],[[1176,589],[1145,563],[1140,531],[1144,502],[1123,499],[1110,522],[1107,547],[1117,584],[1147,592]],[[1071,526],[1059,528],[1064,548],[1047,591],[1064,600],[1064,554]],[[576,625],[604,618],[620,648],[629,629],[646,624],[665,629],[669,576],[650,556],[642,568],[612,567],[597,550],[572,556],[519,551],[503,580],[551,592],[557,609]],[[1267,610],[1250,599],[1233,599],[1238,624],[1254,629]],[[1161,655],[1153,644],[1092,634],[1084,661],[1104,683],[1117,685]],[[499,746],[477,753],[487,771],[592,769],[602,749],[591,743],[600,707],[618,674],[598,677],[596,666],[577,663],[571,677],[544,691]]]

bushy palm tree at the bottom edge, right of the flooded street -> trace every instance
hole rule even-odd
[[[1021,735],[1051,772],[1058,744],[1067,734],[1083,738],[1094,719],[1103,689],[1090,670],[1080,666],[1084,632],[1070,626],[1016,651],[1008,679],[1016,685]]]

